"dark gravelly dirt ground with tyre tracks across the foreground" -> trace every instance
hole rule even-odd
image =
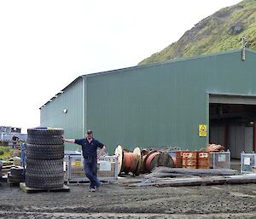
[[[121,182],[122,180],[120,180]],[[256,218],[256,184],[211,187],[69,185],[69,193],[26,194],[0,186],[0,218]]]

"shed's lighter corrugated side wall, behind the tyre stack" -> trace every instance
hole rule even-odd
[[[63,94],[41,108],[41,126],[65,129],[66,138],[81,138],[83,134],[83,79],[70,84]],[[63,110],[67,109],[67,113]],[[66,149],[80,149],[74,144],[66,144]]]

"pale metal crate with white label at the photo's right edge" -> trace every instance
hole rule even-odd
[[[256,153],[241,153],[241,174],[253,173],[256,166]]]

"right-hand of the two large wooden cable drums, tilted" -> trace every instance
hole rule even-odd
[[[145,158],[144,170],[150,173],[155,167],[173,167],[173,161],[169,153],[153,152]]]

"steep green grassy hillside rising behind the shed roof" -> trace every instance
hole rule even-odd
[[[248,48],[256,49],[256,0],[220,9],[185,32],[176,43],[138,65],[239,49],[242,37],[247,38]]]

